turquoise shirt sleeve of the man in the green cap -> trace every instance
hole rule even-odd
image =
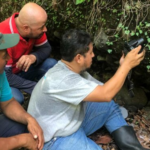
[[[3,81],[2,81],[2,90],[1,90],[1,96],[0,96],[0,101],[5,102],[8,101],[12,98],[12,92],[11,88],[9,86],[9,83],[6,78],[5,72],[3,73]]]

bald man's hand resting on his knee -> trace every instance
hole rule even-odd
[[[18,62],[16,63],[16,68],[27,72],[31,64],[36,61],[35,55],[23,55],[20,57]]]

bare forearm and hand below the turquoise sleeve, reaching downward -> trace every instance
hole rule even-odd
[[[0,106],[3,113],[8,118],[23,124],[27,124],[28,130],[32,134],[33,138],[35,136],[38,138],[38,148],[43,147],[44,137],[42,129],[36,120],[30,114],[28,114],[14,98],[9,101],[1,102]]]

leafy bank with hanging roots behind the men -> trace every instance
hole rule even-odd
[[[19,12],[27,2],[42,6],[47,14],[47,36],[55,41],[69,28],[80,28],[96,37],[107,36],[106,54],[121,53],[124,41],[144,37],[147,42],[145,68],[150,66],[150,7],[148,0],[0,0],[0,21]],[[13,6],[13,7],[12,7]],[[100,35],[101,37],[101,35]],[[98,51],[97,55],[101,55]],[[147,67],[148,66],[148,67]]]

